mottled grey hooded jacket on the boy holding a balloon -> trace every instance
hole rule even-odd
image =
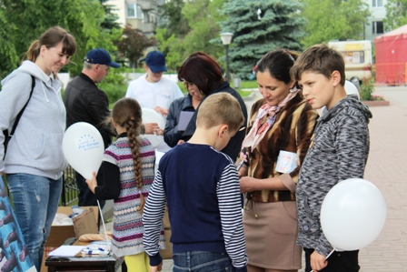
[[[327,256],[333,247],[323,235],[323,198],[338,182],[362,178],[369,155],[372,113],[356,96],[346,96],[318,119],[296,189],[297,244]]]

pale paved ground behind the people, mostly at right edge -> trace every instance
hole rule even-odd
[[[250,110],[252,100],[246,101]],[[362,248],[362,272],[407,271],[407,87],[376,87],[390,106],[372,106],[371,152],[364,178],[378,186],[387,204],[382,234]],[[164,260],[163,272],[172,271],[172,260]]]

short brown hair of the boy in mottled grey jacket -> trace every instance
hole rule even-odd
[[[342,54],[328,45],[321,44],[308,47],[295,61],[290,74],[296,81],[301,79],[304,72],[321,74],[329,79],[333,71],[339,72],[340,84],[344,86],[345,63]]]

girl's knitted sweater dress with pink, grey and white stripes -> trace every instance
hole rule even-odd
[[[140,206],[140,193],[148,199],[154,180],[155,152],[144,138],[139,138],[139,152],[142,163],[143,186],[139,190],[135,183],[133,155],[126,136],[119,137],[104,151],[104,162],[119,167],[120,195],[114,198],[113,248],[116,257],[144,252],[142,214],[136,211]],[[114,182],[113,180],[107,182]],[[160,229],[160,243],[164,246],[164,230]]]

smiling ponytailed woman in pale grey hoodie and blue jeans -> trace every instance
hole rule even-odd
[[[59,26],[49,28],[5,77],[0,92],[0,176],[7,174],[15,215],[38,271],[67,166],[62,151],[66,113],[56,75],[75,51],[73,35]],[[11,131],[27,101],[5,156],[3,131]]]

